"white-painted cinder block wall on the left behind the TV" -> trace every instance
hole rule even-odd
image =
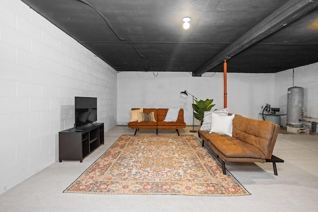
[[[0,194],[58,160],[74,96],[117,123],[117,73],[20,0],[0,3]]]

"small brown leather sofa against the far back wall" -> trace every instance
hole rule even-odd
[[[139,108],[133,108],[132,110],[138,110]],[[168,112],[168,108],[143,108],[144,113],[154,112],[156,122],[138,122],[132,121],[128,123],[128,127],[136,129],[135,134],[140,129],[156,129],[156,135],[158,135],[158,129],[175,129],[180,136],[178,129],[185,128],[185,122],[183,118],[183,109],[179,110],[178,119],[175,122],[165,122],[165,116]]]

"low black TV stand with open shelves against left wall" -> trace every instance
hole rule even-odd
[[[80,130],[71,128],[59,132],[59,162],[79,160],[104,144],[104,123],[91,124]]]

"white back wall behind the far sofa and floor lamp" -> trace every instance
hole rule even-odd
[[[231,67],[228,64],[228,70]],[[155,74],[157,74],[156,72]],[[180,92],[187,90],[198,99],[214,99],[213,109],[224,106],[224,75],[208,72],[201,77],[193,77],[188,72],[118,73],[118,114],[119,125],[129,122],[131,108],[169,108],[184,109],[187,125],[192,125],[192,97],[187,99]],[[231,113],[259,119],[258,113],[265,103],[273,102],[274,74],[228,73],[228,107]],[[195,125],[199,122],[195,120]]]

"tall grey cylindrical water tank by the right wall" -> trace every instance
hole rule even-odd
[[[287,126],[302,124],[302,110],[304,107],[304,88],[290,87],[287,93]]]

